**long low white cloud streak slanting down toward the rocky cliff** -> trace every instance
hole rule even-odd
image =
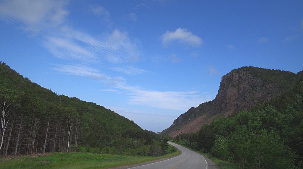
[[[86,76],[102,83],[111,85],[114,89],[102,91],[128,95],[127,103],[131,105],[149,106],[160,109],[186,111],[189,107],[213,99],[209,94],[201,95],[198,91],[157,91],[131,86],[122,77],[111,77],[98,70],[84,65],[56,65],[54,70],[75,76]]]

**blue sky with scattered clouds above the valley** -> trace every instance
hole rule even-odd
[[[57,94],[161,132],[221,77],[297,73],[303,1],[1,0],[0,60]]]

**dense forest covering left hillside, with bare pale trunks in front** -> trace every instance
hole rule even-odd
[[[79,151],[159,156],[167,141],[92,102],[57,95],[0,62],[0,154]],[[91,149],[93,148],[93,149]]]

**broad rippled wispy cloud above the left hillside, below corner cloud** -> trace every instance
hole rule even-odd
[[[139,57],[136,42],[130,40],[127,32],[117,29],[96,39],[85,32],[62,26],[57,34],[48,36],[44,38],[44,46],[60,58],[127,63]]]

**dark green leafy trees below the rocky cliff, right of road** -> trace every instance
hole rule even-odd
[[[286,93],[174,138],[241,168],[303,168],[303,75]]]

